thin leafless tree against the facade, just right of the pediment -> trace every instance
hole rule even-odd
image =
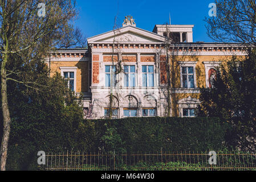
[[[172,113],[171,109],[176,108],[177,102],[180,97],[176,94],[176,89],[180,88],[182,85],[178,85],[178,80],[180,80],[180,70],[178,68],[178,61],[197,60],[198,57],[194,54],[189,53],[186,49],[181,49],[180,51],[180,39],[176,40],[177,37],[172,34],[168,23],[165,23],[165,42],[162,44],[159,54],[160,54],[160,72],[165,73],[166,77],[160,78],[160,83],[164,89],[164,96],[167,101],[165,115],[167,117],[178,117],[178,113]],[[198,70],[198,74],[200,71]],[[160,74],[161,75],[161,74]],[[195,75],[196,76],[196,75]]]

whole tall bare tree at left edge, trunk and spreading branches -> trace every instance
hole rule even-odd
[[[39,16],[39,3],[45,5],[45,16]],[[42,4],[41,4],[42,5]],[[73,0],[1,0],[0,1],[0,63],[1,63],[1,109],[3,114],[3,137],[1,143],[1,170],[6,169],[7,148],[11,117],[9,112],[7,84],[15,81],[27,88],[42,90],[40,82],[24,77],[26,71],[19,68],[7,70],[13,61],[29,65],[48,57],[50,49],[66,45],[65,35],[78,35],[70,24],[76,18]],[[14,77],[15,75],[15,77]],[[29,76],[29,75],[26,75]]]

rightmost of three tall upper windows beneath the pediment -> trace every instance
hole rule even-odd
[[[142,66],[142,85],[145,87],[154,86],[154,66],[153,65]]]

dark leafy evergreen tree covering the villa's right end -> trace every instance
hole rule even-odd
[[[198,115],[219,117],[233,125],[229,142],[242,150],[255,150],[256,52],[245,60],[222,61],[213,89],[201,89]]]

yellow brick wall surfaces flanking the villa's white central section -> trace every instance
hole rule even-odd
[[[240,56],[244,57],[244,56]],[[170,56],[170,79],[172,88],[181,88],[180,80],[180,65],[178,61],[197,61],[196,64],[196,82],[197,87],[202,88],[206,86],[205,80],[205,65],[204,61],[225,61],[231,59],[231,56]],[[55,72],[60,73],[59,67],[78,67],[76,72],[76,92],[88,92],[88,61],[51,61],[51,76]],[[183,98],[199,98],[199,93],[172,93],[172,116],[178,117],[177,102]]]

